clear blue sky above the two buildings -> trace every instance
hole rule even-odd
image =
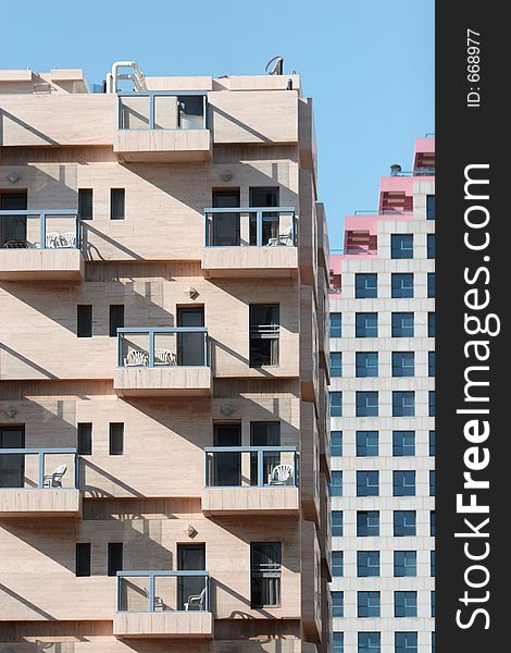
[[[89,83],[120,59],[217,76],[260,74],[282,54],[314,98],[334,248],[344,215],[376,208],[379,176],[409,169],[414,139],[435,131],[434,0],[47,0],[2,2],[1,15],[1,67],[83,67]]]

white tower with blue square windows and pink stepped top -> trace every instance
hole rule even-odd
[[[435,139],[331,257],[334,653],[435,651]]]

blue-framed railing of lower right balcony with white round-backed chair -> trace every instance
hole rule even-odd
[[[298,485],[295,446],[209,446],[207,488]]]

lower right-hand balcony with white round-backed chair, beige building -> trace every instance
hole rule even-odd
[[[211,446],[204,453],[204,515],[298,515],[296,447]]]

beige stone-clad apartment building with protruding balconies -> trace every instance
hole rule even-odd
[[[0,651],[328,653],[300,77],[7,70],[0,118]]]

